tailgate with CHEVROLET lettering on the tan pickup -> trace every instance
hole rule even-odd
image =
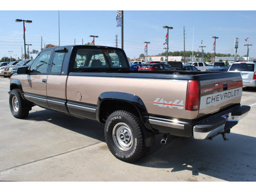
[[[201,95],[198,117],[239,104],[242,87],[243,81],[238,73],[204,74],[200,77]]]

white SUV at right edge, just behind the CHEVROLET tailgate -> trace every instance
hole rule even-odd
[[[256,87],[256,63],[236,62],[231,65],[228,72],[240,72],[243,86]]]

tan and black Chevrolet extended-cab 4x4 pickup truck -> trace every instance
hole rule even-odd
[[[239,73],[131,71],[122,49],[68,45],[44,49],[30,67],[18,68],[8,93],[15,118],[40,106],[105,124],[113,156],[132,163],[155,134],[163,134],[162,144],[168,135],[226,140],[250,111],[240,104],[242,85]]]

